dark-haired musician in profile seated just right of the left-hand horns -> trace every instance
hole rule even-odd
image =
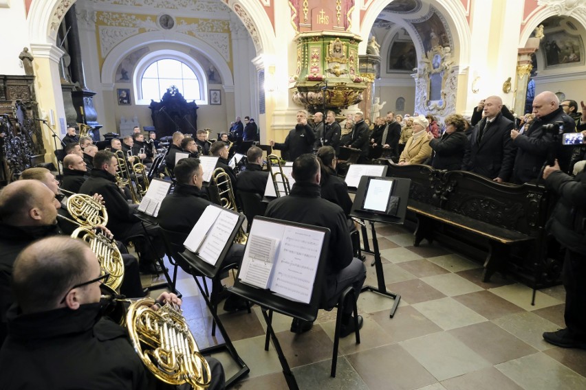
[[[135,236],[144,236],[143,225],[137,216],[135,209],[130,207],[116,184],[116,168],[118,160],[109,150],[100,150],[94,157],[94,169],[91,170],[89,179],[81,185],[80,194],[100,194],[104,198],[108,211],[108,229],[114,237],[122,242]],[[161,273],[162,269],[155,262],[158,255],[162,255],[163,244],[160,240],[157,227],[144,224],[146,233],[152,242],[152,246],[160,253],[154,253],[153,248],[144,238],[133,238],[137,251],[140,253],[140,268],[143,272]]]

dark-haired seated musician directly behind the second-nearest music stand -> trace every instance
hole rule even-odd
[[[199,217],[204,214],[206,207],[213,205],[213,203],[202,192],[204,168],[199,159],[177,161],[175,179],[177,179],[175,190],[173,194],[169,194],[163,199],[157,219],[163,229],[188,234],[199,220]],[[243,255],[244,245],[232,244],[224,258],[224,262],[222,262],[222,266],[238,264]],[[217,293],[219,291],[213,292],[213,294]],[[230,298],[224,303],[224,310],[226,311],[246,308],[246,301],[235,295],[230,295]]]

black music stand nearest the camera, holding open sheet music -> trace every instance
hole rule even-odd
[[[301,223],[275,220],[272,218],[265,218],[259,216],[255,217],[254,220],[263,220],[278,223],[285,226],[301,227],[304,229],[321,231],[324,233],[323,242],[329,242],[329,229],[324,227],[304,225]],[[281,349],[279,340],[276,338],[276,334],[274,333],[274,329],[272,328],[272,312],[279,312],[281,314],[285,314],[286,316],[295,317],[303,321],[315,321],[318,314],[318,310],[320,309],[322,288],[325,284],[325,282],[323,281],[323,274],[325,273],[326,256],[327,246],[323,245],[321,248],[321,255],[318,262],[310,303],[292,301],[285,297],[276,295],[274,292],[270,290],[257,288],[249,284],[244,284],[240,282],[239,275],[241,268],[238,271],[238,275],[235,279],[234,286],[230,288],[230,290],[236,295],[239,295],[240,297],[248,299],[248,301],[252,301],[254,303],[257,303],[257,305],[261,306],[263,317],[265,319],[265,322],[267,323],[267,340],[265,342],[265,351],[268,351],[268,338],[270,336],[270,339],[272,340],[272,343],[274,345],[275,352],[277,356],[279,356],[281,367],[283,367],[283,375],[285,376],[285,380],[287,381],[289,389],[299,389],[299,386],[297,385],[295,376],[293,375],[289,367],[289,364],[287,363],[287,358],[285,358],[285,354],[283,354],[283,349]]]

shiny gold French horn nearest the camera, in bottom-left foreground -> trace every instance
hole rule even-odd
[[[153,310],[158,302],[151,298],[124,299],[110,288],[104,290],[102,299],[112,303],[107,314],[127,329],[135,352],[156,378],[169,385],[188,383],[196,390],[210,385],[210,366],[179,307],[165,303]]]

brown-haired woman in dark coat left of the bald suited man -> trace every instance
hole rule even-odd
[[[448,115],[445,119],[446,133],[439,139],[427,133],[429,146],[433,150],[431,166],[436,170],[459,170],[462,168],[462,159],[468,144],[468,137],[464,134],[466,119],[462,115]]]

